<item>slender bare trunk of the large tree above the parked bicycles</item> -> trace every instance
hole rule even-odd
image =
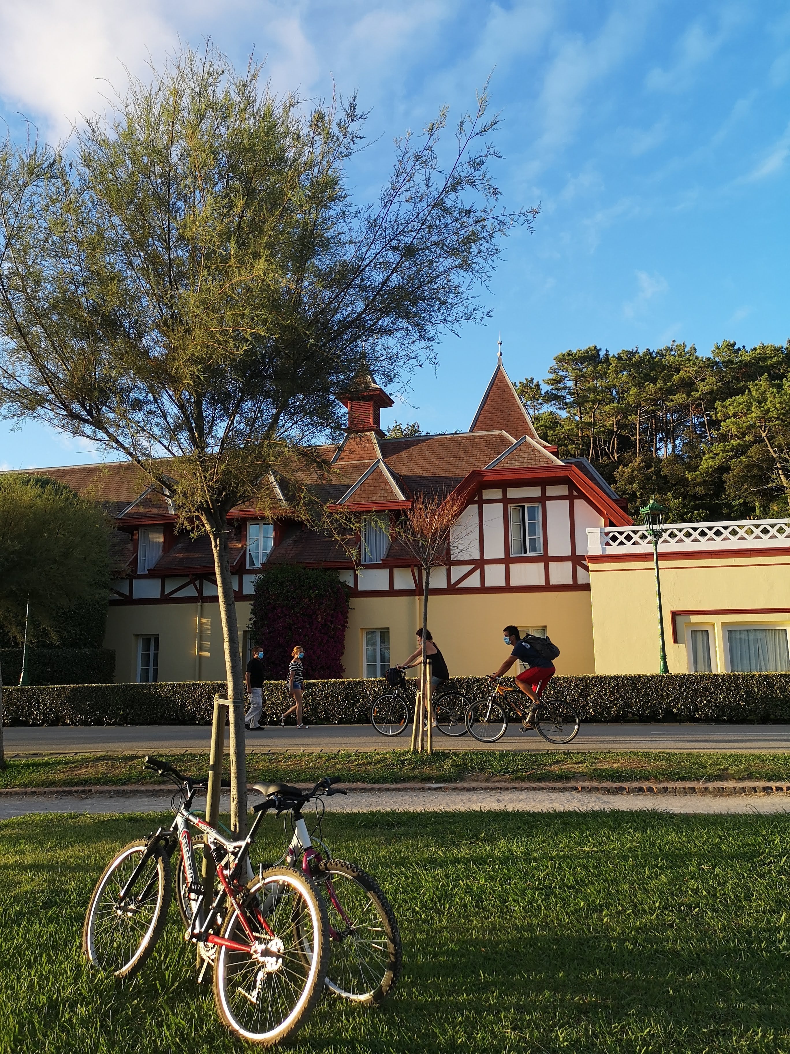
[[[219,519],[219,518],[218,518]],[[231,755],[231,829],[239,837],[246,831],[246,742],[244,738],[244,689],[239,649],[239,626],[236,618],[236,600],[231,577],[231,526],[222,516],[214,523],[209,518],[203,523],[211,539],[214,569],[217,574],[219,617],[222,623],[222,643],[225,653],[228,678],[228,707]]]

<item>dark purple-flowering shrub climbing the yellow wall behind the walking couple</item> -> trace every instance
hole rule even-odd
[[[255,583],[250,631],[263,645],[268,680],[288,674],[296,644],[305,650],[307,677],[341,678],[348,625],[349,588],[336,571],[275,564]]]

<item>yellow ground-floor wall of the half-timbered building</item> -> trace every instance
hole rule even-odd
[[[362,677],[362,635],[390,630],[391,662],[402,662],[416,646],[421,598],[354,597],[349,613],[343,666],[347,677]],[[239,630],[250,620],[249,602],[236,605]],[[196,657],[197,620],[211,620],[209,655]],[[508,655],[501,630],[508,623],[546,626],[561,655],[561,674],[594,671],[590,593],[586,590],[533,593],[436,592],[430,600],[429,628],[445,655],[451,675],[478,676],[495,669]],[[224,679],[221,627],[217,604],[135,604],[111,606],[104,646],[116,652],[116,681],[137,678],[137,639],[159,635],[160,681]],[[205,636],[205,635],[203,635]],[[309,649],[310,642],[304,641]],[[309,664],[305,664],[309,674]]]

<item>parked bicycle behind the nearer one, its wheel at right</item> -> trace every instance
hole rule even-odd
[[[335,995],[361,1006],[379,1003],[392,992],[400,977],[402,951],[395,913],[376,880],[356,864],[324,858],[316,848],[327,848],[321,838],[324,794],[345,794],[330,790],[332,781],[323,779],[312,790],[270,783],[256,784],[271,800],[277,802],[277,815],[288,813],[293,836],[283,857],[289,866],[300,866],[314,882],[322,898],[329,919],[330,961],[324,984]],[[302,809],[311,801],[316,805],[316,826],[311,833]],[[319,814],[318,807],[321,807]],[[179,871],[176,884],[179,911],[189,925],[189,884],[185,872]],[[305,941],[305,944],[309,941]]]

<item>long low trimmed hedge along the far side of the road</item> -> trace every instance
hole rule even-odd
[[[485,678],[456,678],[452,686],[471,699],[490,690]],[[669,674],[556,677],[557,695],[584,721],[708,721],[790,723],[790,674]],[[387,689],[382,680],[309,681],[308,720],[356,724]],[[78,684],[12,687],[4,692],[5,721],[17,725],[209,724],[214,694],[224,682]],[[263,687],[263,718],[275,723],[289,706],[284,681]]]

